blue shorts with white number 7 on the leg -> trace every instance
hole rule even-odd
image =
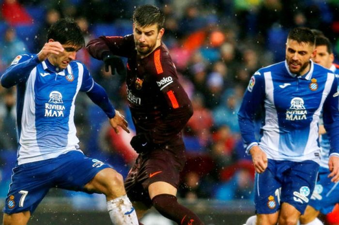
[[[53,187],[83,191],[84,185],[108,165],[86,157],[82,152],[70,151],[57,158],[17,165],[3,212],[7,214],[30,211]]]

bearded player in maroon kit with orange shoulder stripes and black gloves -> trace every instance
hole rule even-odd
[[[157,7],[140,6],[133,14],[133,34],[101,36],[86,48],[92,57],[110,65],[112,73],[115,67],[122,70],[116,56],[128,58],[127,100],[137,131],[131,145],[139,157],[127,175],[125,188],[139,218],[154,206],[179,225],[202,225],[175,196],[185,165],[181,130],[193,109],[161,42],[164,21]]]

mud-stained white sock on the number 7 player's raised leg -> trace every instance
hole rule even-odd
[[[136,210],[127,195],[108,201],[107,210],[113,225],[139,225]]]

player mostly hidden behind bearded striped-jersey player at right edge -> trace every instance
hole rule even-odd
[[[312,60],[331,70],[338,79],[339,66],[333,63],[334,55],[331,42],[328,38],[320,35],[316,37],[315,46],[317,53]],[[319,124],[319,134],[321,135],[319,140],[321,157],[318,180],[305,213],[300,217],[300,224],[302,225],[323,225],[323,222],[317,218],[319,213],[327,214],[333,210],[336,203],[339,203],[338,183],[333,183],[328,178],[330,174],[328,156],[331,146],[329,137],[324,129],[324,124],[322,123]]]

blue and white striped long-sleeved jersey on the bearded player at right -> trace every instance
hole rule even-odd
[[[338,82],[332,71],[313,63],[303,76],[292,74],[286,61],[258,70],[250,79],[238,118],[246,151],[258,144],[253,119],[263,107],[260,148],[267,158],[320,161],[318,121],[324,126],[331,154],[339,156]]]

